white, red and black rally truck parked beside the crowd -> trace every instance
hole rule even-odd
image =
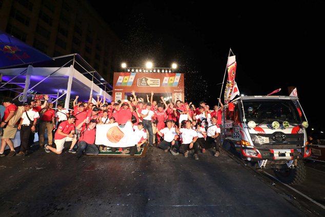
[[[283,183],[306,179],[308,122],[296,96],[240,96],[222,112],[222,147]]]

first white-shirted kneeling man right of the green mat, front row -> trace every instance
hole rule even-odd
[[[173,121],[168,120],[167,127],[165,127],[164,129],[158,130],[157,128],[157,133],[160,136],[164,136],[164,141],[161,141],[158,144],[158,147],[164,149],[165,152],[167,152],[168,149],[171,148],[170,152],[173,155],[178,155],[178,135],[175,131],[175,128],[173,127]]]

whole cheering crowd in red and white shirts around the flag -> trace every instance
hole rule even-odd
[[[0,127],[2,128],[2,143],[0,155],[5,156],[4,150],[8,145],[10,152],[7,156],[24,156],[31,151],[35,132],[38,133],[39,146],[46,152],[62,153],[65,142],[71,142],[69,152],[76,153],[77,159],[82,154],[98,154],[106,151],[105,144],[95,145],[96,125],[114,124],[119,126],[131,122],[135,132],[134,142],[128,148],[120,148],[121,154],[134,155],[144,146],[157,146],[173,155],[179,153],[188,157],[194,151],[198,160],[199,153],[214,148],[214,156],[219,156],[221,113],[224,108],[220,99],[217,105],[210,107],[201,101],[197,107],[192,103],[184,103],[175,94],[169,101],[160,96],[154,101],[154,93],[144,98],[137,97],[135,91],[128,100],[107,103],[105,98],[94,105],[92,95],[88,102],[78,102],[78,96],[73,102],[73,109],[68,110],[62,105],[53,109],[48,102],[48,96],[41,100],[25,102],[22,106],[14,105],[10,100],[4,100],[6,110]],[[159,97],[158,97],[159,98]],[[218,106],[219,105],[219,106]],[[11,122],[10,122],[11,120]],[[16,123],[12,123],[16,122]],[[15,133],[20,130],[21,146],[16,153],[13,142]],[[44,144],[47,131],[48,143]],[[110,147],[116,151],[116,147]]]

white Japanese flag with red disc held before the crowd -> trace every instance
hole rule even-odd
[[[96,145],[105,145],[108,147],[130,147],[137,141],[134,140],[135,134],[131,122],[119,126],[114,124],[96,125]]]

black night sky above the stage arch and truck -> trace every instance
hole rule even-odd
[[[130,67],[147,60],[155,67],[176,62],[177,72],[185,73],[186,101],[217,102],[231,48],[240,93],[267,95],[281,88],[276,95],[289,95],[288,86],[295,86],[310,129],[324,131],[317,112],[322,108],[316,106],[323,96],[325,3],[224,2],[91,4],[121,39],[117,62]]]

